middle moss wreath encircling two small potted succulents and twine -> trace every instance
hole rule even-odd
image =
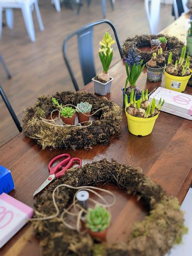
[[[92,112],[98,111],[96,121],[86,128],[61,128],[42,122],[55,107],[52,97],[63,105],[77,105],[80,102],[89,102],[93,105]],[[34,107],[27,108],[23,118],[23,132],[27,137],[34,139],[42,148],[85,148],[90,149],[97,143],[108,145],[110,137],[120,132],[122,110],[114,102],[105,97],[98,98],[87,92],[61,92],[53,96],[40,96]]]

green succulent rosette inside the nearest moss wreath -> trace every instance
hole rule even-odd
[[[109,227],[111,222],[111,214],[105,207],[89,208],[86,217],[86,227],[92,232],[102,232]]]

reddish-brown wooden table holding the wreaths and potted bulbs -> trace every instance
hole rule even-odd
[[[184,39],[180,32],[185,34],[187,26],[186,16],[183,16],[163,32],[177,34]],[[122,61],[111,68],[110,75],[115,79],[107,98],[122,106],[121,88],[124,87],[126,78]],[[161,83],[146,81],[146,70],[144,70],[137,85],[140,89],[148,88],[151,91],[154,87],[164,86],[164,80]],[[84,87],[84,90],[93,93],[93,83]],[[187,87],[185,92],[192,94],[192,88]],[[192,182],[192,122],[161,112],[152,133],[146,137],[137,137],[128,132],[127,120],[123,114],[122,134],[111,138],[110,145],[96,145],[91,151],[41,150],[35,142],[23,134],[3,145],[0,148],[0,164],[12,171],[15,181],[15,190],[10,195],[33,207],[33,192],[47,178],[49,161],[61,152],[67,152],[72,157],[80,157],[82,164],[113,158],[119,163],[141,167],[145,175],[158,182],[167,193],[178,197],[180,202]],[[120,198],[108,241],[125,240],[134,221],[143,219],[145,211],[142,204],[137,203],[134,197],[126,196],[122,190],[115,187],[108,186],[108,188]],[[20,230],[0,250],[0,255],[40,255],[40,247],[32,226],[27,224]]]

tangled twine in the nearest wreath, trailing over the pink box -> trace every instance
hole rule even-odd
[[[110,207],[112,207],[115,202],[116,202],[116,198],[115,198],[115,195],[111,192],[111,191],[108,191],[106,189],[101,189],[101,188],[97,188],[97,187],[93,187],[93,186],[79,186],[79,187],[74,187],[74,186],[70,186],[70,185],[67,185],[67,184],[61,184],[61,185],[58,185],[52,192],[52,201],[53,201],[53,204],[54,204],[54,207],[56,209],[56,212],[55,214],[53,215],[49,215],[49,216],[46,216],[45,214],[41,213],[41,212],[38,212],[38,211],[35,211],[35,213],[37,215],[41,215],[41,216],[44,216],[44,217],[40,217],[40,218],[31,218],[29,219],[29,221],[44,221],[44,220],[49,220],[49,219],[52,219],[52,218],[56,218],[58,215],[59,215],[59,209],[58,209],[58,206],[55,202],[55,192],[56,190],[58,190],[59,187],[61,186],[64,186],[64,187],[67,187],[67,188],[70,188],[70,189],[78,189],[78,191],[75,193],[75,195],[73,196],[73,203],[67,208],[67,209],[64,209],[63,212],[61,213],[61,216],[60,216],[60,221],[66,226],[68,227],[69,229],[71,230],[76,230],[79,234],[84,234],[87,232],[87,230],[84,230],[84,231],[81,231],[81,217],[82,217],[82,214],[83,213],[87,213],[87,210],[84,209],[83,207],[81,207],[79,204],[77,204],[77,200],[76,200],[76,195],[79,191],[81,190],[84,190],[86,189],[87,191],[90,191],[92,192],[93,194],[95,194],[96,196],[98,196],[105,204],[102,204],[102,203],[99,203],[98,201],[92,199],[92,198],[88,198],[89,201],[93,202],[94,204],[98,204],[102,207],[106,207],[109,209],[109,211],[111,212],[111,209]],[[105,198],[102,196],[102,195],[99,195],[99,193],[97,193],[96,191],[94,191],[93,189],[95,190],[99,190],[99,191],[102,191],[102,192],[106,192],[107,194],[111,195],[113,197],[113,201],[111,204],[108,204],[108,202],[105,200]],[[70,209],[74,209],[74,213],[73,212],[70,212]],[[77,210],[77,208],[79,208],[79,212]],[[68,224],[65,220],[64,220],[64,215],[65,214],[68,214],[70,216],[74,216],[76,217],[76,226],[72,226],[70,224]]]

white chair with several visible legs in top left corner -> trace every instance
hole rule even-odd
[[[44,25],[41,20],[41,14],[38,7],[38,0],[0,0],[0,38],[2,37],[2,15],[3,9],[6,11],[6,20],[9,29],[13,29],[14,15],[13,9],[21,9],[23,13],[23,19],[25,21],[26,29],[29,34],[29,38],[32,42],[35,41],[35,30],[32,18],[32,7],[35,6],[35,12],[38,18],[40,30],[44,30]]]

